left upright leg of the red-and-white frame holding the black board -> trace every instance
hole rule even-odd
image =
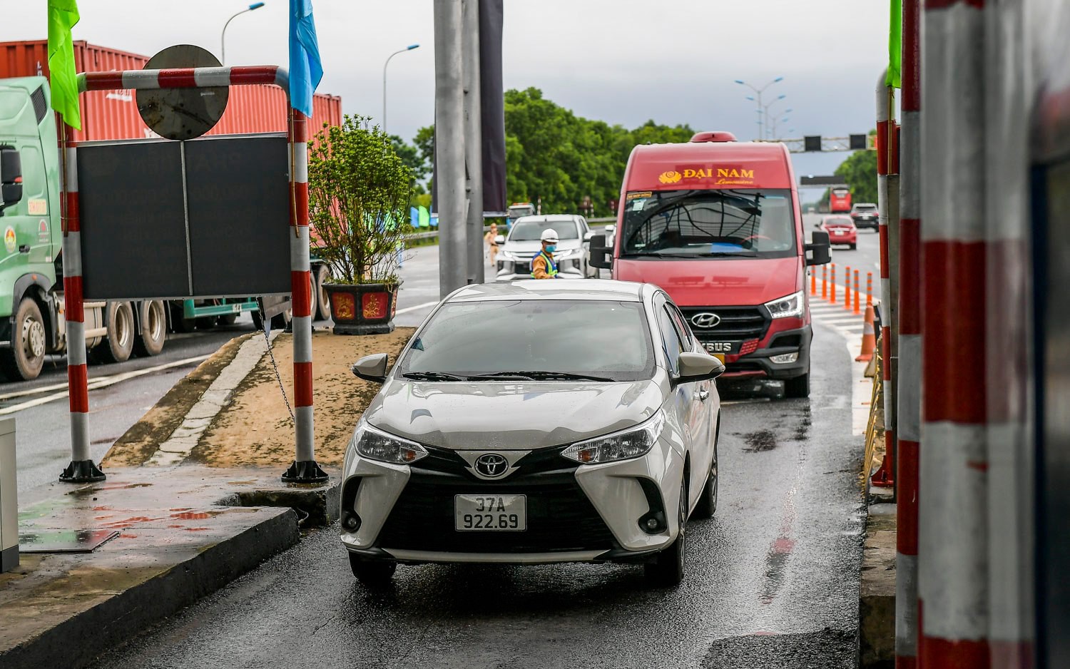
[[[66,320],[67,395],[71,398],[71,463],[64,483],[104,481],[89,453],[89,371],[86,366],[86,309],[81,283],[81,224],[78,218],[78,159],[74,130],[59,120],[63,222],[63,316]]]

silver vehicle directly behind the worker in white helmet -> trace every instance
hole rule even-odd
[[[557,249],[553,259],[557,271],[565,278],[592,278],[598,270],[591,267],[591,237],[594,234],[583,216],[574,214],[548,214],[521,216],[509,228],[507,237],[500,237],[498,274],[495,280],[511,282],[532,277],[532,258],[542,243],[542,230],[552,228],[557,232]]]

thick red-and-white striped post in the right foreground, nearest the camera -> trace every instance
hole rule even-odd
[[[918,666],[991,667],[984,3],[922,19]],[[1002,320],[1002,319],[1000,319]],[[1003,363],[999,363],[1003,364]],[[1000,391],[997,391],[1000,392]],[[997,542],[1014,541],[1011,536]],[[1010,578],[1010,575],[1006,575]]]

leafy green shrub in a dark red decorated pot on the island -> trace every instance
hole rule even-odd
[[[345,117],[316,135],[308,161],[310,244],[331,268],[334,331],[394,330],[398,261],[409,223],[411,170],[368,119]]]

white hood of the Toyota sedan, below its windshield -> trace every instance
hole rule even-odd
[[[391,379],[364,417],[379,429],[429,446],[526,451],[642,423],[661,406],[664,392],[655,380],[430,383]]]

